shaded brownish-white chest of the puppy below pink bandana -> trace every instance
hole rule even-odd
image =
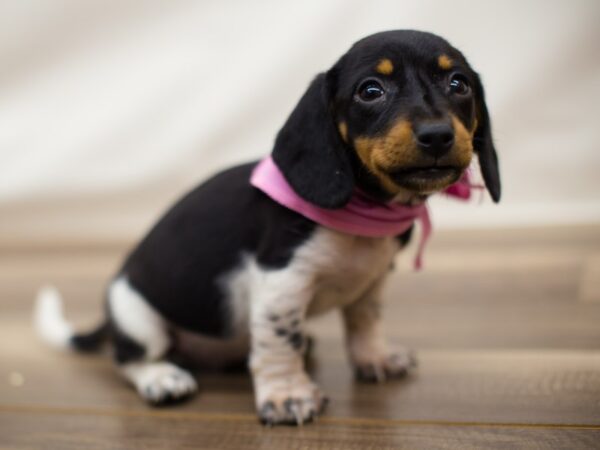
[[[315,239],[315,295],[308,315],[348,305],[390,270],[398,251],[394,238],[348,236],[328,230]]]

